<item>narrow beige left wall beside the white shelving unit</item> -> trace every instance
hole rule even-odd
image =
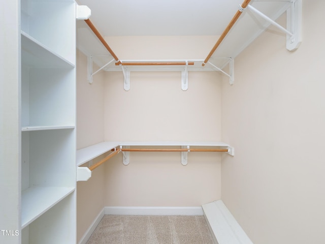
[[[77,149],[104,141],[103,73],[87,81],[87,58],[77,50]],[[94,159],[93,162],[95,163]],[[104,166],[77,182],[77,241],[104,207]]]

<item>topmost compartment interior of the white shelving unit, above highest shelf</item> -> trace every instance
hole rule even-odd
[[[22,31],[75,64],[74,1],[23,0],[21,7]]]

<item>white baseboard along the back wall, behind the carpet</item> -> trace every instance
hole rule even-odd
[[[105,207],[105,215],[203,215],[199,207]]]

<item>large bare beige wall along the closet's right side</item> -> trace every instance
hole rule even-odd
[[[222,140],[236,154],[222,158],[221,198],[255,244],[324,241],[322,8],[303,1],[298,50],[269,31],[236,58],[235,84],[222,84]]]

